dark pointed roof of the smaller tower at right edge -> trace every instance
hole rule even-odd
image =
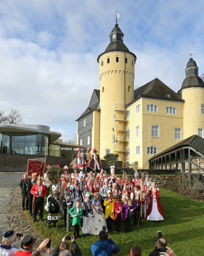
[[[191,87],[204,87],[204,82],[202,78],[199,77],[199,67],[197,67],[197,63],[190,58],[186,65],[186,78],[184,82],[182,82],[182,89],[191,88]],[[178,93],[180,93],[178,91]]]

